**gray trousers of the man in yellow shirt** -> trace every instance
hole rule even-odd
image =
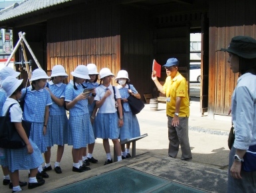
[[[182,149],[181,159],[191,159],[192,153],[190,149],[190,141],[188,139],[188,117],[179,117],[180,124],[176,127],[172,126],[172,119],[168,117],[168,138],[169,150],[168,155],[176,158],[179,147]]]

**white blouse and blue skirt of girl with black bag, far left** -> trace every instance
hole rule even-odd
[[[12,98],[7,98],[5,104],[3,106],[3,110],[5,111],[2,115],[6,115],[9,106],[15,103],[10,109],[11,112],[11,121],[12,122],[21,122],[22,119],[22,111],[17,100]],[[32,168],[37,168],[41,164],[43,164],[43,157],[41,155],[41,151],[37,147],[37,145],[29,138],[29,142],[33,147],[33,153],[27,153],[27,147],[22,149],[5,149],[5,161],[9,170],[14,172],[15,170],[29,170]]]

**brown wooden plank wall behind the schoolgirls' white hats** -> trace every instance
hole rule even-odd
[[[61,64],[72,79],[79,64],[120,70],[120,9],[96,7],[47,21],[47,70]]]

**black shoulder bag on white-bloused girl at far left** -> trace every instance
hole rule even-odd
[[[0,117],[0,147],[4,149],[21,149],[26,146],[9,117],[13,105],[14,103],[9,106],[5,116]],[[31,122],[22,120],[22,126],[29,138]]]

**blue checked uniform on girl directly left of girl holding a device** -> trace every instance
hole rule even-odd
[[[56,97],[64,98],[66,84],[53,84],[53,81],[50,81],[49,89]],[[60,107],[55,101],[50,106],[45,143],[47,147],[68,143],[68,117],[66,117],[66,110],[64,106]]]

